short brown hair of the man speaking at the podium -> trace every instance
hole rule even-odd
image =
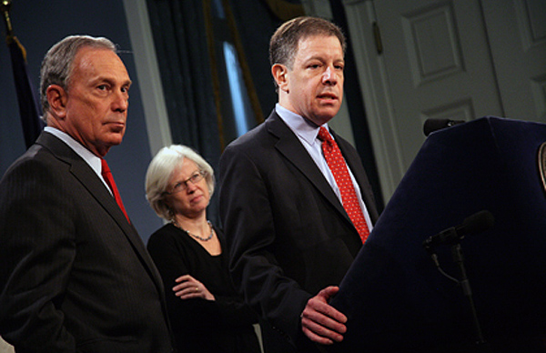
[[[338,37],[339,44],[345,55],[347,40],[338,25],[319,17],[301,16],[280,25],[271,36],[269,41],[269,63],[271,66],[282,64],[292,69],[299,42],[315,35]]]

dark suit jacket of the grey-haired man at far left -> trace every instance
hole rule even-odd
[[[90,166],[46,132],[0,181],[0,335],[16,352],[170,352],[161,278]]]

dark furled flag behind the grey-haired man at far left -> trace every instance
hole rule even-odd
[[[19,104],[19,116],[23,125],[26,148],[34,144],[38,135],[44,128],[40,119],[40,108],[35,95],[35,89],[26,69],[26,51],[17,37],[8,35],[7,46],[11,55],[12,69],[14,71],[15,90]]]

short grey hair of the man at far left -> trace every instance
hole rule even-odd
[[[117,54],[116,45],[105,37],[68,35],[56,45],[53,45],[45,54],[40,68],[40,101],[44,116],[49,110],[46,95],[47,87],[58,85],[64,89],[68,88],[74,70],[74,59],[79,49],[84,46],[105,48]]]

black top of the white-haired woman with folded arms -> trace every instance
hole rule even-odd
[[[197,240],[172,224],[159,228],[147,249],[163,278],[167,310],[178,352],[260,352],[252,324],[256,314],[238,297],[227,269],[224,235],[215,227],[222,247],[210,255]],[[190,275],[207,287],[216,300],[180,299],[172,290],[175,279]]]

